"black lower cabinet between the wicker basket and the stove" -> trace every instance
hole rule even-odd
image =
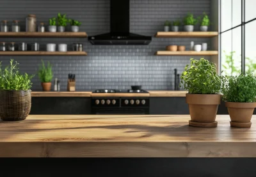
[[[32,97],[31,115],[90,115],[90,97]]]

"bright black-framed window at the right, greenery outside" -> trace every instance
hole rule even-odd
[[[256,74],[255,0],[221,0],[220,57],[223,75]]]

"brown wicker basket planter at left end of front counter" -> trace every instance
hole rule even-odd
[[[24,120],[31,110],[31,90],[0,90],[0,118]]]

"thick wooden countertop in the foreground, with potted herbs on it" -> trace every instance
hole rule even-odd
[[[256,157],[252,127],[189,127],[189,115],[29,115],[0,121],[0,157]]]

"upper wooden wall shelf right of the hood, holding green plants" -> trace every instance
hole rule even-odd
[[[218,36],[215,31],[195,31],[195,32],[157,32],[156,38],[210,38]]]

